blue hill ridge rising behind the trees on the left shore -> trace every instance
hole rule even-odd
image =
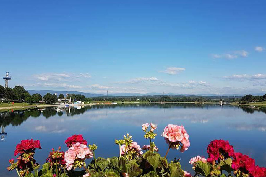
[[[51,94],[55,94],[57,93],[57,96],[59,96],[60,94],[63,94],[64,96],[67,95],[67,93],[69,94],[81,94],[84,95],[86,98],[90,98],[90,97],[97,97],[97,96],[106,96],[103,94],[91,94],[91,93],[85,93],[85,92],[80,92],[80,91],[59,91],[59,90],[27,90],[31,95],[32,94],[41,94],[42,96],[46,95],[47,93],[51,93]]]

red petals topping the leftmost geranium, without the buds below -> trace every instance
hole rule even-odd
[[[14,156],[25,153],[27,151],[34,151],[35,148],[41,149],[39,140],[22,140],[20,144],[17,144]]]

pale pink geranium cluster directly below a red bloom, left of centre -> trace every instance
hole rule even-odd
[[[83,140],[83,137],[82,137],[82,140]],[[87,141],[85,142],[87,144]],[[75,142],[74,144],[73,143],[74,141],[71,142],[72,145],[65,152],[65,156],[64,156],[67,170],[71,170],[73,166],[74,166],[74,169],[76,167],[79,167],[79,168],[85,167],[86,163],[84,162],[84,160],[86,158],[93,158],[92,151],[85,144],[82,144],[80,142]]]

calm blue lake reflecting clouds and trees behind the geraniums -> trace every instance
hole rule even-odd
[[[95,143],[95,155],[107,158],[119,156],[115,139],[129,133],[139,145],[148,145],[143,123],[158,125],[155,144],[162,156],[168,146],[161,137],[168,124],[184,125],[191,146],[184,153],[170,150],[168,159],[181,158],[182,168],[192,171],[191,157],[207,157],[207,145],[214,139],[229,140],[236,152],[247,154],[257,165],[266,164],[266,108],[215,104],[117,104],[85,107],[29,109],[1,112],[0,125],[7,135],[0,142],[0,174],[17,176],[7,171],[8,160],[14,158],[17,143],[24,139],[40,140],[42,149],[36,150],[35,159],[44,163],[51,148],[62,150],[64,141],[73,134],[82,134],[88,144]],[[88,160],[87,160],[88,161]],[[87,162],[88,164],[88,162]]]

